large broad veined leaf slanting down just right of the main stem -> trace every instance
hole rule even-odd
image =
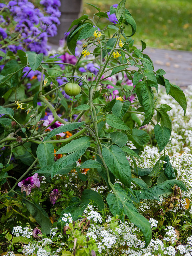
[[[123,150],[116,145],[102,149],[102,156],[109,170],[125,186],[131,186],[131,168]]]

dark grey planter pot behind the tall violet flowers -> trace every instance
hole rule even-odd
[[[82,11],[82,0],[60,0],[59,8],[61,16],[59,18],[60,25],[57,27],[57,36],[49,38],[52,44],[59,44],[59,40],[64,37],[64,33],[68,30],[73,20],[80,17]]]

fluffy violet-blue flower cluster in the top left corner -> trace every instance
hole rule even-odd
[[[28,0],[11,0],[7,5],[0,4],[0,10],[5,7],[5,12],[10,12],[10,16],[6,16],[7,20],[0,16],[0,39],[10,41],[13,27],[15,32],[21,35],[16,43],[8,45],[12,52],[21,49],[47,54],[47,38],[57,34],[56,25],[60,24],[60,1],[41,0],[40,4],[44,5],[47,16]]]

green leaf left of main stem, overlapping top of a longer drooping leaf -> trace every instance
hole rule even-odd
[[[91,144],[89,137],[81,137],[77,140],[70,141],[67,145],[60,148],[55,154],[72,153],[84,147],[89,147]]]

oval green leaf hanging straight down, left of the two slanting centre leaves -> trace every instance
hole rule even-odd
[[[54,147],[51,143],[43,142],[38,145],[37,151],[36,151],[39,164],[41,165],[41,168],[49,165],[54,164]]]

